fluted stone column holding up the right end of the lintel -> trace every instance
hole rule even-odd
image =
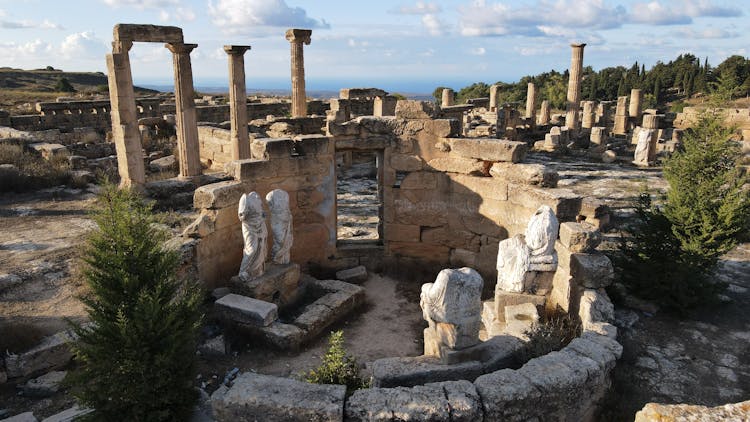
[[[172,52],[174,66],[175,119],[180,177],[200,176],[201,158],[198,144],[198,120],[195,114],[195,91],[190,52],[198,44],[166,44]]]

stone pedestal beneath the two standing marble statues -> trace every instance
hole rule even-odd
[[[229,287],[232,293],[249,296],[284,307],[297,299],[299,290],[299,265],[270,264],[263,275],[243,281],[238,276],[231,278]]]

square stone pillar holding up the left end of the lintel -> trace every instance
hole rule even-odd
[[[107,54],[107,72],[109,101],[112,106],[112,138],[117,151],[120,186],[141,189],[146,183],[146,169],[143,165],[141,133],[138,129],[133,75],[128,54],[132,46],[133,43],[130,41],[112,43],[112,54]]]

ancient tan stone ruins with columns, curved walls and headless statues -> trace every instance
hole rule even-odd
[[[343,386],[243,372],[212,393],[217,421],[594,420],[622,353],[604,291],[614,270],[597,251],[609,210],[558,188],[558,174],[525,162],[527,153],[651,166],[674,149],[691,111],[642,110],[637,89],[581,102],[585,44],[572,45],[564,114],[551,114],[533,84],[523,115],[498,102],[497,87],[459,105],[451,90],[440,105],[374,88],[308,101],[303,51],[312,31],[285,36],[291,102],[248,102],[250,46],[227,45],[228,104],[197,105],[197,44],[177,27],[116,25],[109,102],[42,103],[40,115],[0,117],[8,126],[0,137],[54,134],[68,145],[42,140],[39,148],[116,160],[122,186],[192,204],[198,216],[176,239],[183,272],[213,291],[223,327],[253,342],[295,351],[318,339],[363,305],[357,283],[368,272],[434,280],[421,288],[421,356],[374,361],[372,387],[348,397]],[[129,51],[137,42],[172,53],[173,99],[136,98]],[[148,181],[154,157],[143,143],[164,127],[176,131],[178,176]],[[107,128],[114,151],[81,146]],[[365,153],[376,158],[377,234],[346,241],[337,234],[337,178]],[[519,361],[528,330],[553,312],[579,321],[580,336]],[[50,353],[62,349],[54,338],[6,357],[3,380],[66,363],[69,352]]]

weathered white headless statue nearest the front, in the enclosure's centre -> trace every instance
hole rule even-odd
[[[430,338],[451,349],[478,343],[483,285],[482,276],[468,267],[442,270],[434,283],[423,284],[419,306],[434,332]]]

